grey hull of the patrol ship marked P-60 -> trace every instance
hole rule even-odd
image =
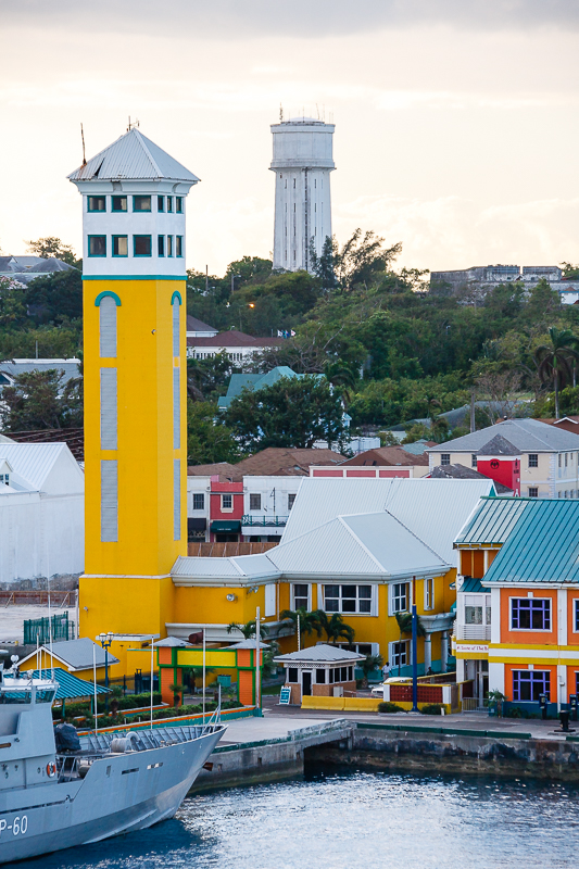
[[[104,756],[81,780],[0,792],[0,864],[99,842],[173,817],[223,732]]]

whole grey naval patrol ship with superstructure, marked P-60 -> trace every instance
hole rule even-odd
[[[56,748],[56,683],[0,668],[0,864],[172,818],[226,730],[219,722],[91,733]]]

